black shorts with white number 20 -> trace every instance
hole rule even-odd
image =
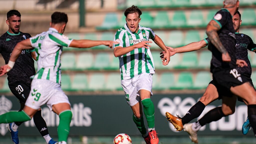
[[[29,96],[30,85],[22,82],[16,82],[13,84],[9,84],[9,88],[11,92],[15,95],[15,97],[19,99],[19,102],[25,104]]]

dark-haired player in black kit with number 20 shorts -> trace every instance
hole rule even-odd
[[[22,33],[20,28],[20,13],[17,10],[10,10],[7,13],[6,23],[9,29],[0,37],[0,53],[2,54],[5,64],[8,63],[10,55],[16,46],[16,44],[24,39],[30,38],[30,34]],[[10,70],[8,75],[8,85],[12,93],[19,99],[21,111],[30,92],[30,77],[35,75],[34,59],[36,59],[35,49],[23,50],[18,57],[14,67]],[[52,140],[49,136],[48,128],[45,120],[41,116],[41,110],[38,110],[33,117],[34,123],[41,133],[42,137],[46,140],[47,144],[56,144],[57,142]],[[13,122],[7,126],[7,129],[11,132],[12,141],[15,144],[19,143],[18,139],[18,127],[22,122]]]

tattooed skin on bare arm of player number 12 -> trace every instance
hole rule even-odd
[[[217,33],[217,30],[220,29],[220,25],[215,22],[214,20],[212,20],[210,23],[209,23],[209,26],[211,27],[215,27],[215,29],[212,29],[212,30],[207,30],[206,31],[206,34],[208,35],[211,43],[223,54],[226,54],[227,53],[227,50],[226,48],[222,45],[222,43],[220,42],[220,37]],[[217,29],[216,29],[217,28]]]

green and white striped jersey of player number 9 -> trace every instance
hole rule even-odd
[[[37,52],[38,69],[33,79],[47,79],[60,84],[62,48],[68,47],[73,39],[58,33],[55,28],[29,39]]]

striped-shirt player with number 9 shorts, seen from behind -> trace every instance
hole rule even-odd
[[[58,137],[59,144],[66,144],[72,119],[68,97],[61,90],[61,61],[63,46],[89,48],[98,45],[112,47],[112,41],[73,40],[63,35],[68,22],[67,14],[54,12],[51,15],[50,28],[29,39],[19,42],[10,56],[7,65],[1,67],[0,76],[12,72],[15,61],[24,49],[38,50],[38,70],[31,83],[31,91],[25,107],[19,112],[7,112],[0,115],[0,123],[13,121],[28,121],[47,104],[50,110],[59,115]]]

